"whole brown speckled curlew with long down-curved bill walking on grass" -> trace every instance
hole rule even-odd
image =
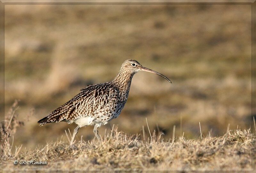
[[[132,77],[139,71],[155,73],[172,83],[164,75],[141,66],[136,60],[128,59],[124,61],[113,81],[88,85],[74,98],[37,123],[44,125],[50,122],[75,122],[78,126],[74,130],[70,145],[73,144],[80,127],[94,125],[93,132],[101,142],[97,128],[119,116],[128,98]]]

